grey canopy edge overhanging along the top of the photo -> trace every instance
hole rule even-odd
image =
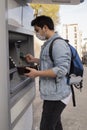
[[[15,0],[20,4],[36,3],[36,4],[70,4],[76,5],[84,2],[84,0]]]

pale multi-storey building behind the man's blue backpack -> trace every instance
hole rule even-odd
[[[63,37],[69,39],[70,44],[77,49],[80,57],[82,57],[82,34],[79,30],[78,24],[63,25]]]

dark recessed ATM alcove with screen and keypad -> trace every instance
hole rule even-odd
[[[32,36],[30,35],[9,31],[9,76],[11,97],[29,86],[29,83],[32,81],[31,78],[20,75],[17,69],[17,67],[29,66],[26,60],[23,59],[23,55],[32,52],[31,40]],[[33,64],[30,65],[33,66]]]

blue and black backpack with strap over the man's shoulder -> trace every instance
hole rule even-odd
[[[83,71],[84,71],[83,64],[77,50],[72,45],[69,44],[69,40],[63,39],[61,37],[55,38],[50,44],[49,56],[52,62],[54,62],[52,57],[52,48],[53,48],[54,41],[57,39],[64,40],[69,45],[71,50],[70,71],[69,73],[66,74],[66,76],[67,76],[67,84],[71,86],[73,106],[76,106],[74,87],[79,90],[81,90],[83,87]]]

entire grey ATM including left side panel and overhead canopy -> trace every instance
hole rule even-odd
[[[33,130],[35,80],[18,71],[21,66],[35,67],[24,59],[28,52],[34,55],[30,26],[33,10],[26,5],[27,2],[35,1],[0,1],[0,130]],[[46,2],[50,3],[50,0],[43,0]],[[58,0],[52,0],[51,4],[55,2]],[[83,0],[62,1],[69,4],[80,2]]]

